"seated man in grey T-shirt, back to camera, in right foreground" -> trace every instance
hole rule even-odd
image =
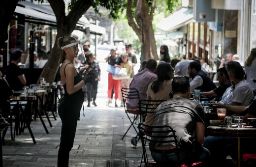
[[[153,126],[170,125],[176,131],[181,163],[204,160],[209,156],[209,150],[202,147],[205,133],[203,107],[199,103],[190,100],[188,78],[174,78],[172,90],[173,98],[161,103],[156,109]],[[166,143],[150,142],[149,145],[151,155],[159,165],[172,166],[178,163],[177,154],[174,151],[175,143],[166,145]],[[191,147],[194,148],[193,151],[190,149]]]

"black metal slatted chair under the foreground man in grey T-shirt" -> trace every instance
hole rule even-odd
[[[160,165],[158,165],[155,162],[148,162],[147,149],[146,149],[146,146],[148,146],[147,141],[156,142],[156,139],[159,139],[159,138],[162,140],[160,140],[160,141],[157,140],[158,143],[170,143],[170,142],[175,143],[176,148],[175,148],[174,152],[177,154],[177,158],[178,158],[178,162],[179,162],[178,140],[177,140],[177,136],[175,135],[176,131],[173,130],[172,127],[170,127],[168,125],[150,126],[150,125],[146,125],[143,123],[139,123],[138,129],[139,129],[139,137],[141,138],[141,144],[142,144],[142,150],[143,150],[140,167],[142,165],[143,160],[144,160],[144,167],[160,167]],[[165,140],[163,140],[163,139],[165,139]],[[201,165],[202,163],[203,163],[202,161],[195,162],[195,163],[188,164],[188,165],[178,163],[176,166],[194,167],[197,165]]]

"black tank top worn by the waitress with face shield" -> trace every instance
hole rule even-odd
[[[70,63],[68,63],[70,64]],[[67,64],[66,64],[67,65]],[[65,75],[65,68],[64,67],[64,75]],[[66,75],[65,75],[66,76]],[[74,78],[74,85],[82,81],[82,78],[77,73]],[[79,120],[80,118],[80,111],[84,102],[84,93],[82,88],[79,89],[77,92],[73,94],[68,94],[66,91],[66,83],[63,85],[65,93],[63,98],[61,99],[60,105],[58,107],[58,112],[61,119],[72,119],[72,120]]]

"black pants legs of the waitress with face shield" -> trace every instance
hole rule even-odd
[[[68,167],[69,152],[73,147],[77,120],[62,119],[61,143],[58,153],[58,167]]]

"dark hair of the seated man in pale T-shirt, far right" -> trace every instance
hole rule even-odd
[[[244,79],[245,71],[241,64],[237,61],[229,61],[226,65],[226,70],[228,73],[232,74],[235,79]]]

